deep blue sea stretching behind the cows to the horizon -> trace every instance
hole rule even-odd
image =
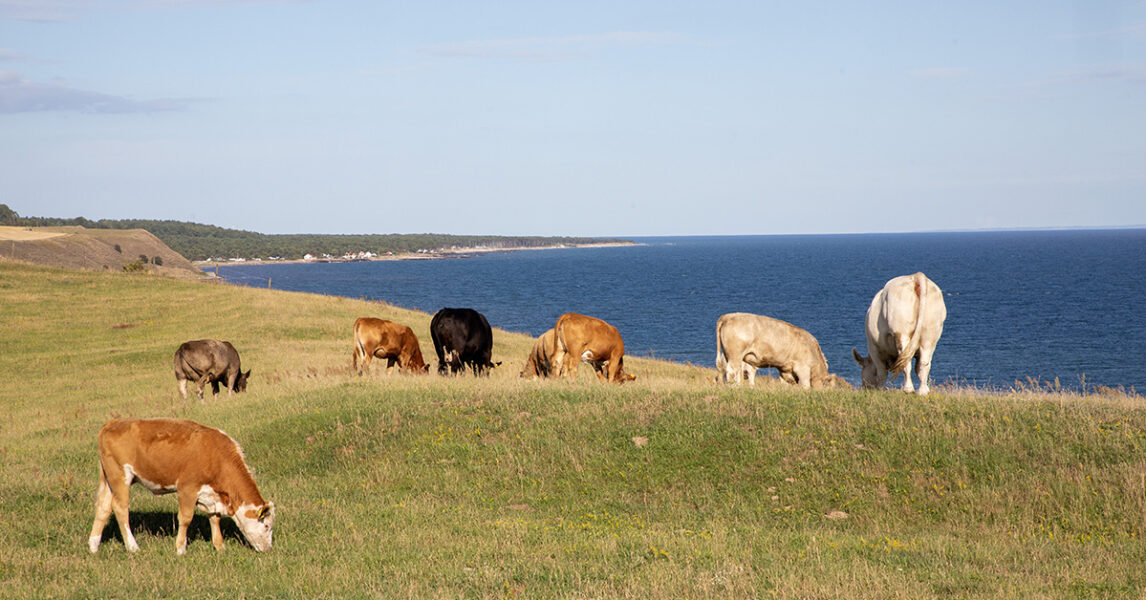
[[[219,274],[431,314],[470,307],[532,335],[562,313],[583,313],[615,325],[629,355],[704,366],[714,365],[716,318],[755,313],[811,332],[830,370],[857,384],[851,348],[866,354],[872,297],[892,277],[924,271],[948,310],[933,381],[1008,388],[1058,378],[1072,389],[1146,390],[1146,229],[633,239],[641,245]]]

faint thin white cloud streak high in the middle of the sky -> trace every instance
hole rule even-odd
[[[558,61],[621,46],[672,45],[688,41],[673,32],[617,31],[552,38],[474,40],[423,46],[418,52],[446,58]]]

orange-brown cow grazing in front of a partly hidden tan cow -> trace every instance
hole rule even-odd
[[[592,365],[597,377],[623,384],[636,379],[625,374],[625,340],[617,327],[604,321],[565,313],[557,318],[557,349],[562,353],[559,377],[576,379],[578,361]]]

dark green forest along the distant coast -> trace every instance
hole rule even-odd
[[[448,248],[529,248],[554,245],[626,243],[619,238],[544,237],[544,236],[455,236],[447,234],[259,234],[241,229],[147,219],[101,219],[83,216],[60,219],[21,216],[0,204],[0,224],[17,227],[80,226],[88,229],[146,229],[171,250],[188,260],[212,258],[300,259],[305,254],[342,256],[347,253],[372,252],[394,254]]]

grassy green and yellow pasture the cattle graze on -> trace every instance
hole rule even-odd
[[[639,358],[625,386],[525,381],[533,340],[496,329],[488,379],[355,378],[359,316],[437,366],[426,314],[0,262],[0,598],[1144,597],[1140,396],[748,389]],[[209,337],[250,387],[183,401],[172,354]],[[89,554],[116,416],[236,437],[274,548],[226,520],[217,553],[197,514],[176,556],[174,497],[134,487],[140,552],[112,518]]]

